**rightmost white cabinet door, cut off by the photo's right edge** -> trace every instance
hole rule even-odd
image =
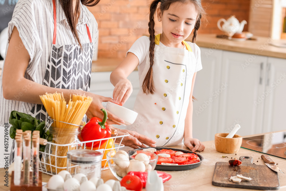
[[[268,58],[267,82],[260,101],[265,101],[263,132],[285,130],[286,60]]]

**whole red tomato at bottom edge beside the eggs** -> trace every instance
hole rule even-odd
[[[127,190],[141,191],[143,184],[140,178],[136,175],[126,175],[120,181],[120,185],[124,186]]]

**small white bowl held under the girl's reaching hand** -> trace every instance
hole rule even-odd
[[[133,124],[138,115],[138,113],[136,113],[135,111],[127,109],[126,107],[123,107],[121,105],[117,105],[116,103],[112,103],[110,101],[107,102],[106,109],[112,114],[122,119],[123,121],[125,121],[124,124],[120,123],[121,125]],[[118,121],[115,122],[119,123]]]

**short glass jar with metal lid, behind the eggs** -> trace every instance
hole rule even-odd
[[[89,149],[79,149],[67,152],[67,171],[73,176],[83,173],[88,180],[101,176],[102,153]]]

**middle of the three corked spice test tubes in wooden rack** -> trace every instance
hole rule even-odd
[[[30,161],[31,161],[31,131],[23,133],[23,160],[24,160],[24,173],[23,184],[29,184],[30,180]]]

